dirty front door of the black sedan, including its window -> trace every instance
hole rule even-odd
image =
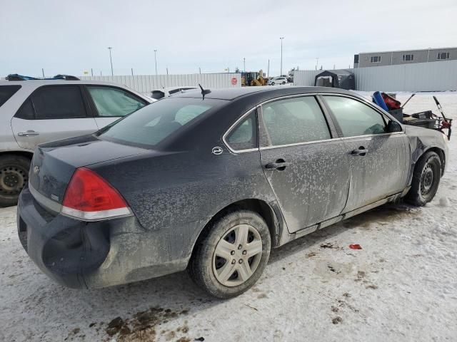
[[[403,191],[411,153],[403,132],[387,133],[388,117],[356,98],[324,95],[351,165],[345,212]]]

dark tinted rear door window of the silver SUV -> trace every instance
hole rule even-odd
[[[45,86],[31,94],[36,119],[86,118],[79,86]]]

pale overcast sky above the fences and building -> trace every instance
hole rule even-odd
[[[457,46],[456,0],[0,0],[0,76],[283,73],[366,51]]]

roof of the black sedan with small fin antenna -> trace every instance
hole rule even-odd
[[[211,90],[211,89],[210,89]],[[211,90],[211,93],[206,94],[205,98],[214,98],[219,100],[235,100],[236,98],[245,97],[248,95],[261,95],[262,98],[271,95],[271,98],[283,95],[298,95],[306,93],[341,93],[351,94],[348,90],[328,87],[302,87],[302,86],[268,86],[268,87],[238,87],[238,88],[219,88]],[[186,90],[185,93],[174,95],[174,98],[201,98],[201,90]]]

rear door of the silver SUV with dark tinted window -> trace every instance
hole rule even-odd
[[[34,150],[43,142],[94,133],[97,125],[88,109],[81,86],[43,86],[21,105],[11,128],[20,147]]]

